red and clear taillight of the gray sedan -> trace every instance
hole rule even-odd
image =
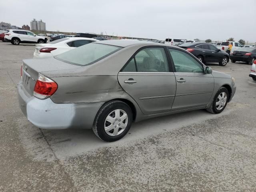
[[[58,89],[58,84],[50,78],[38,74],[38,80],[34,87],[33,95],[38,99],[46,99],[52,96]]]

